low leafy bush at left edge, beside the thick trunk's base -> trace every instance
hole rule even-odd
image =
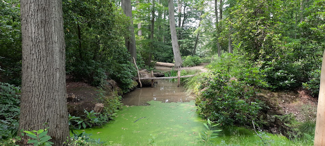
[[[0,139],[13,137],[17,131],[20,112],[19,93],[20,87],[0,82]]]

